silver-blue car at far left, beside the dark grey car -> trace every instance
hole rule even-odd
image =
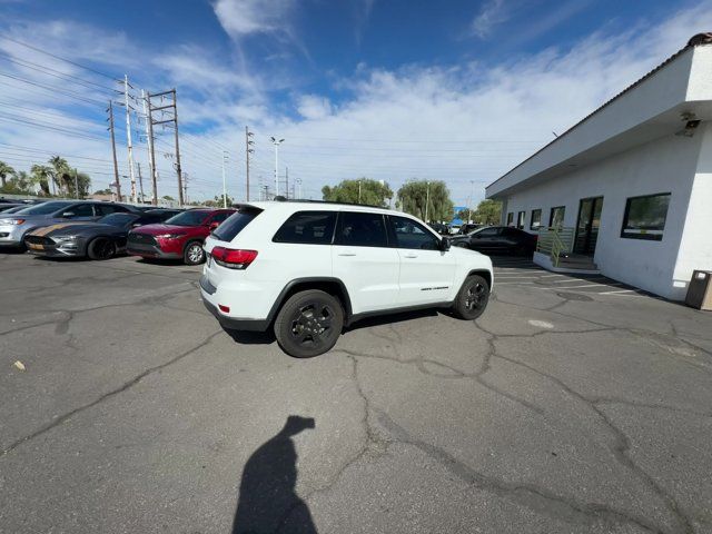
[[[24,236],[34,228],[70,220],[97,220],[117,211],[134,210],[129,206],[113,202],[50,200],[11,215],[0,214],[0,248],[23,249]]]

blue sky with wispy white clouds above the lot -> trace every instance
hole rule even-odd
[[[176,88],[191,199],[221,194],[224,162],[245,199],[247,126],[253,199],[275,190],[275,136],[280,192],[286,179],[314,199],[343,179],[428,179],[476,205],[711,30],[712,0],[0,0],[0,160],[29,170],[59,154],[107,188],[112,100],[126,194],[127,76],[147,194],[141,90]],[[174,132],[156,138],[159,196],[175,197]]]

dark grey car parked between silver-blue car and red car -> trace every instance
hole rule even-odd
[[[126,250],[129,230],[167,218],[151,211],[116,212],[96,222],[72,221],[36,228],[27,233],[24,244],[38,256],[109,259]]]

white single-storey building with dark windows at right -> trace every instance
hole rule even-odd
[[[712,33],[693,37],[486,196],[503,201],[503,224],[563,226],[573,255],[603,275],[684,299],[693,269],[712,269]],[[535,261],[550,266],[548,250]]]

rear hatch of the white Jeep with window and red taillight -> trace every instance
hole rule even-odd
[[[218,226],[205,241],[205,280],[217,287],[235,271],[245,270],[256,257],[256,250],[234,245],[237,236],[263,212],[261,208],[243,205],[236,214]],[[234,275],[233,275],[234,276]],[[205,286],[204,286],[205,287]],[[206,288],[208,290],[208,288]]]

